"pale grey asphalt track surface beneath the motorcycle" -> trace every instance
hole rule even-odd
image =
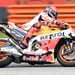
[[[75,75],[75,67],[62,67],[55,65],[15,64],[0,68],[0,75]]]

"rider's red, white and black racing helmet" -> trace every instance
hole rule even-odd
[[[47,6],[44,10],[51,18],[57,19],[57,12],[54,6]]]

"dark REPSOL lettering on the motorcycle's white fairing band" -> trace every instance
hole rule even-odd
[[[62,37],[62,36],[65,36],[64,32],[59,32],[59,33],[55,33],[55,34],[41,36],[40,40],[43,40],[43,39],[54,39],[56,37]]]

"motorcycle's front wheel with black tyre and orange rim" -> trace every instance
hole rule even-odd
[[[62,44],[57,52],[57,60],[62,66],[75,66],[75,50],[70,45]]]

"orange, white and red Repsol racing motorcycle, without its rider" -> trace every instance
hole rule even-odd
[[[75,34],[72,28],[60,29],[42,26],[39,32],[29,39],[28,47],[23,48],[22,39],[25,31],[10,29],[0,24],[0,31],[8,36],[1,38],[0,67],[12,62],[36,64],[54,64],[57,61],[62,66],[75,65]]]

